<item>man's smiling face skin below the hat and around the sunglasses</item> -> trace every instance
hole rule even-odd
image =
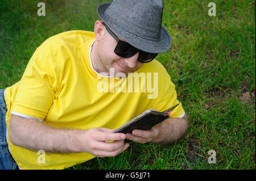
[[[105,72],[109,73],[110,68],[113,68],[115,75],[117,73],[125,73],[127,76],[128,73],[141,68],[144,63],[138,61],[139,53],[136,53],[133,57],[129,58],[119,57],[114,53],[117,41],[109,34],[108,31],[106,31],[105,27],[104,29],[104,33],[98,46],[98,56],[100,59],[99,63],[102,65],[102,68],[105,68]],[[117,36],[119,40],[125,41],[116,33],[115,36]]]

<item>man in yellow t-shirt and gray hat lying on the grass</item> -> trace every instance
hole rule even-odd
[[[68,31],[44,41],[22,79],[1,90],[3,134],[11,154],[2,167],[64,169],[114,157],[129,147],[125,139],[168,145],[181,138],[188,128],[181,103],[149,131],[112,133],[146,110],[179,103],[170,76],[154,60],[171,47],[162,12],[160,0],[103,3],[94,33]],[[141,81],[131,81],[137,75]],[[102,91],[104,83],[108,87]],[[152,85],[157,89],[150,97]]]

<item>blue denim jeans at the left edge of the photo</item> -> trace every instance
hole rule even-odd
[[[15,170],[18,169],[18,166],[8,150],[6,142],[6,104],[4,92],[5,89],[0,89],[0,170]]]

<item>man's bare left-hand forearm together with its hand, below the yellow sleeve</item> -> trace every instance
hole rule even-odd
[[[15,146],[47,153],[90,153],[96,157],[115,157],[125,151],[125,134],[113,129],[59,129],[34,119],[12,115],[9,137]],[[108,142],[113,141],[113,142]]]

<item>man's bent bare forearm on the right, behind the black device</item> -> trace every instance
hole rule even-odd
[[[170,145],[182,138],[189,127],[188,117],[168,118],[159,125],[159,134],[152,143],[159,145]]]

